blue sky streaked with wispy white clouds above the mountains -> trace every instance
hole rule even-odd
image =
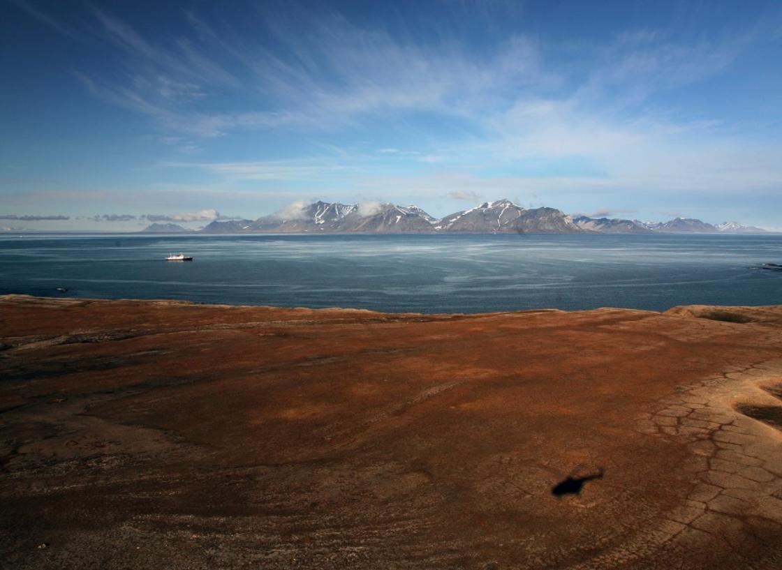
[[[782,229],[776,0],[0,0],[0,46],[0,227],[508,198]]]

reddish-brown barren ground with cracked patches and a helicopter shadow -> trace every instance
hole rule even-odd
[[[782,568],[782,307],[0,297],[2,568]]]

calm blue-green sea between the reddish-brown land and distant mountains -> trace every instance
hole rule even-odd
[[[179,252],[195,260],[163,260]],[[782,235],[9,235],[0,292],[423,313],[780,304],[764,262],[782,263]]]

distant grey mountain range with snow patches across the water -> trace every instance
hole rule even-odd
[[[163,225],[166,228],[163,228]],[[185,231],[175,224],[152,224],[144,231]],[[214,220],[200,230],[238,233],[360,233],[360,234],[582,234],[582,233],[763,233],[737,222],[712,225],[677,217],[666,222],[642,222],[607,217],[571,216],[555,208],[524,208],[508,199],[482,203],[439,220],[418,206],[395,204],[296,204],[257,220]]]

